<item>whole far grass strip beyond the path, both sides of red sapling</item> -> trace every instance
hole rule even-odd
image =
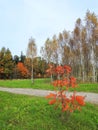
[[[31,83],[31,80],[0,80],[0,86],[11,88],[54,90],[54,87],[50,84],[50,79],[35,79],[34,84]],[[74,89],[70,89],[70,91],[73,90]],[[75,88],[75,90],[98,93],[98,84],[79,84],[79,87]]]

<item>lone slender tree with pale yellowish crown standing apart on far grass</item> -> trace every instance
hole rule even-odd
[[[31,58],[31,81],[34,83],[34,77],[33,77],[33,59],[37,55],[37,46],[35,43],[35,40],[31,37],[29,39],[28,47],[27,47],[27,57]]]

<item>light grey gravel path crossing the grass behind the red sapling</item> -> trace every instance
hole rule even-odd
[[[55,93],[54,91],[49,90],[39,90],[39,89],[28,89],[28,88],[5,88],[0,87],[0,91],[6,91],[15,94],[25,94],[25,95],[32,95],[32,96],[46,96],[50,92]],[[67,95],[70,96],[72,92],[68,92]],[[86,96],[85,101],[91,102],[94,104],[98,104],[98,94],[95,93],[86,93],[86,92],[77,92],[77,95]]]

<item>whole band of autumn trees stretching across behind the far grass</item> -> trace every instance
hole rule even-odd
[[[26,56],[12,56],[9,49],[0,50],[0,78],[45,77],[48,64],[70,65],[72,74],[83,82],[98,82],[98,17],[86,12],[84,21],[76,20],[72,32],[64,30],[47,38],[37,57],[37,46],[30,39]]]

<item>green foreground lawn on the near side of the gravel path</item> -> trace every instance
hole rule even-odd
[[[60,115],[45,98],[0,92],[0,130],[98,130],[98,105],[87,103],[68,121]]]

